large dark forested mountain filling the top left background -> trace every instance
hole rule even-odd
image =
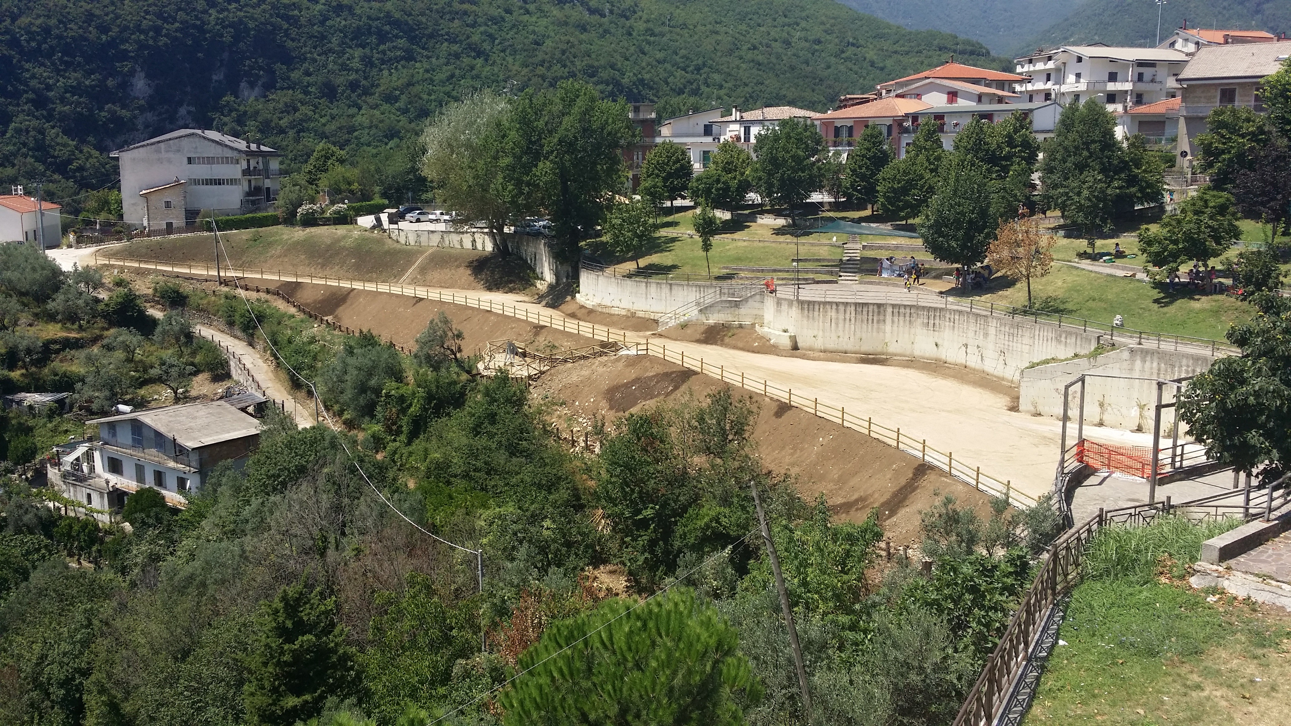
[[[377,154],[475,88],[658,101],[662,114],[840,93],[979,43],[911,32],[830,0],[0,0],[0,185],[53,198],[110,183],[107,151],[177,127],[285,150]]]

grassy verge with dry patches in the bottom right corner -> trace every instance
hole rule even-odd
[[[1025,723],[1286,723],[1291,616],[1185,581],[1223,528],[1100,532]]]

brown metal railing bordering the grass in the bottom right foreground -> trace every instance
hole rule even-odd
[[[1028,703],[1015,700],[1015,687],[1024,670],[1032,668],[1032,648],[1041,636],[1048,615],[1057,598],[1079,579],[1081,559],[1086,546],[1097,531],[1108,524],[1146,524],[1161,514],[1179,514],[1193,522],[1206,522],[1241,517],[1245,521],[1261,517],[1270,509],[1277,509],[1278,501],[1269,487],[1265,501],[1243,504],[1223,504],[1238,492],[1228,491],[1207,497],[1171,504],[1166,501],[1103,510],[1086,519],[1079,526],[1066,531],[1050,548],[1048,557],[1041,565],[1032,586],[1022,596],[1008,629],[1004,630],[995,650],[986,659],[977,682],[973,683],[959,708],[954,726],[990,726],[1004,710],[1011,716],[1025,713]],[[1286,504],[1291,488],[1283,487],[1281,501]],[[1247,492],[1250,497],[1250,492]],[[1029,699],[1029,694],[1026,696]]]

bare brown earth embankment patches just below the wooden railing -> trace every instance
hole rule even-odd
[[[262,280],[247,282],[266,284]],[[516,340],[537,350],[594,342],[462,305],[307,283],[267,284],[278,285],[302,305],[332,316],[342,326],[371,328],[407,346],[414,345],[426,322],[439,310],[444,310],[465,333],[462,342],[467,351],[482,350],[491,340]],[[553,407],[553,420],[562,429],[585,430],[594,416],[612,420],[655,400],[684,395],[702,398],[722,386],[724,384],[709,376],[658,358],[617,355],[554,368],[533,384],[533,390]],[[878,506],[888,539],[899,545],[918,539],[918,513],[942,493],[972,504],[982,514],[989,512],[984,495],[906,453],[762,395],[737,394],[751,395],[760,408],[754,437],[763,462],[773,472],[798,477],[799,488],[807,499],[824,492],[839,519],[861,521],[870,508]]]

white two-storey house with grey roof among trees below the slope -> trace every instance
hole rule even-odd
[[[143,487],[158,490],[173,506],[185,506],[217,464],[232,461],[241,468],[259,446],[261,431],[257,419],[225,400],[150,408],[89,424],[98,425],[98,441],[56,447],[58,457],[48,474],[63,496],[103,510],[120,509]]]

